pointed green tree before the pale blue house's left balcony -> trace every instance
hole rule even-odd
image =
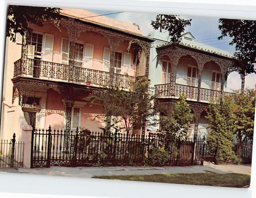
[[[173,106],[173,111],[171,115],[168,115],[168,108],[162,107],[162,112],[164,117],[161,119],[161,123],[165,125],[163,128],[166,131],[162,136],[165,142],[165,149],[169,149],[169,144],[175,140],[184,140],[188,136],[188,131],[190,124],[193,121],[193,114],[191,114],[191,109],[186,102],[186,97],[184,94],[180,94],[180,97],[176,104]]]

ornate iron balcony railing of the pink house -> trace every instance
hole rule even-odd
[[[19,59],[14,62],[14,77],[20,75],[66,82],[69,80],[69,65],[36,59],[27,59],[27,63],[22,64]],[[74,67],[71,82],[92,86],[109,86],[109,77],[110,73],[106,71]],[[113,86],[130,89],[132,83],[138,79],[139,77],[114,74]]]

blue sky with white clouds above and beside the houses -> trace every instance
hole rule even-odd
[[[118,11],[99,11],[90,10],[97,14],[110,14]],[[115,18],[128,23],[136,23],[140,26],[140,30],[143,31],[143,35],[146,36],[149,32],[153,31],[153,27],[150,25],[151,20],[155,20],[156,14],[148,13],[134,13],[123,12],[118,14],[110,14],[107,17]],[[199,16],[180,16],[184,19],[192,19],[191,26],[185,28],[184,32],[190,32],[196,38],[196,42],[202,43],[200,47],[204,48],[204,45],[209,45],[215,48],[228,51],[230,55],[235,52],[235,46],[229,45],[231,38],[224,37],[223,40],[218,40],[221,32],[218,28],[219,18],[211,17],[199,17]],[[249,74],[245,78],[245,87],[255,88],[256,75]],[[233,72],[227,79],[227,91],[237,90],[241,87],[240,75],[237,72]]]

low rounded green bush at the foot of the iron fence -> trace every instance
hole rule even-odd
[[[164,148],[153,148],[148,154],[148,158],[145,158],[144,164],[147,166],[163,166],[169,160],[169,154]]]

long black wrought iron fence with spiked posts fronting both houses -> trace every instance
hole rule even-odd
[[[64,140],[68,140],[66,143]],[[76,130],[35,129],[31,139],[31,167],[141,165],[145,153],[161,148],[159,136],[126,135],[121,133]],[[169,150],[167,165],[195,165],[202,163],[203,140],[175,141]],[[201,149],[200,149],[200,148]],[[195,154],[195,158],[194,158]]]

